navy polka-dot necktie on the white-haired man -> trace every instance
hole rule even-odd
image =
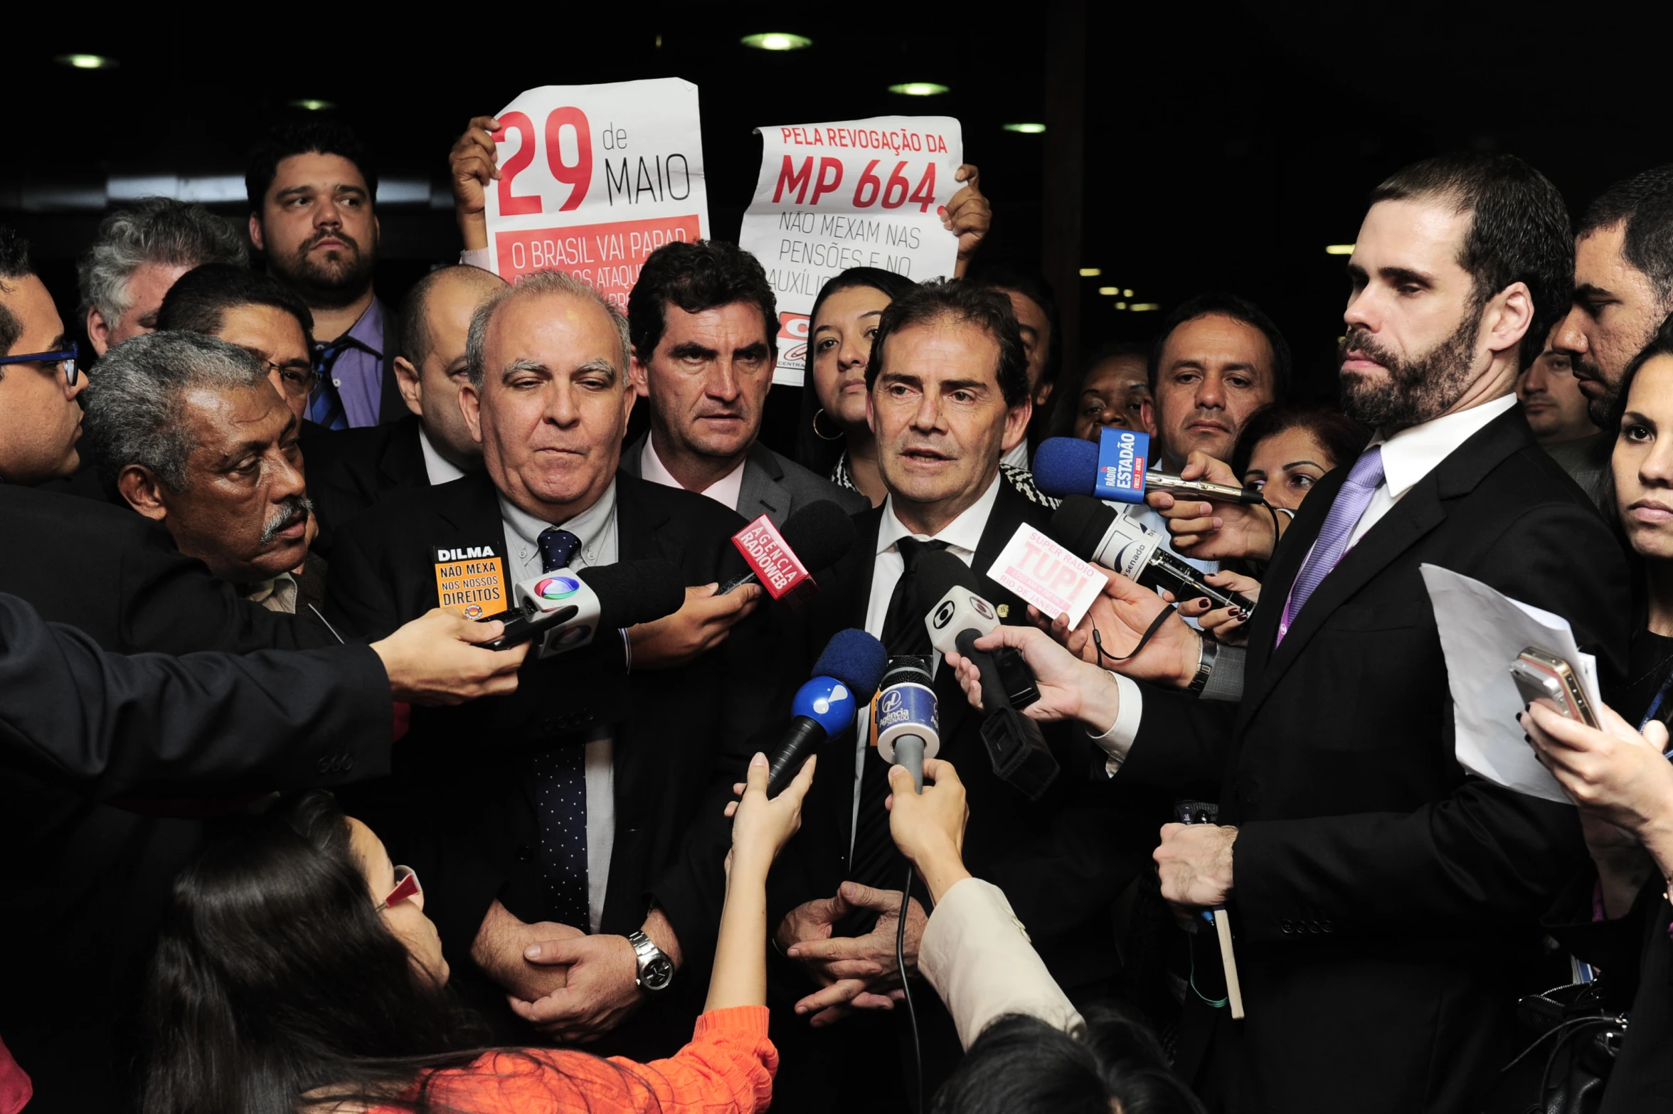
[[[581,547],[569,530],[545,529],[537,539],[540,570],[557,572]],[[552,746],[534,759],[540,810],[540,875],[552,920],[589,930],[587,903],[587,748]]]

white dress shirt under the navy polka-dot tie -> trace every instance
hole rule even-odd
[[[581,539],[570,560],[574,569],[614,565],[616,549],[616,482],[596,503],[564,522],[535,519],[500,495],[500,522],[510,547],[507,572],[512,580],[540,575],[540,530],[562,527]],[[587,925],[599,930],[604,918],[604,892],[611,881],[611,853],[616,850],[616,736],[609,724],[594,728],[587,738]]]

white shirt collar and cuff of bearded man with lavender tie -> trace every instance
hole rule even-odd
[[[1434,472],[1459,445],[1481,433],[1487,428],[1489,422],[1514,405],[1516,395],[1501,395],[1479,406],[1442,415],[1422,425],[1414,425],[1409,430],[1400,430],[1394,437],[1384,437],[1379,430],[1367,448],[1382,445],[1382,483],[1372,492],[1370,502],[1365,505],[1365,514],[1360,515],[1360,520],[1353,525],[1353,532],[1348,534],[1348,549],[1358,545],[1365,532],[1377,525],[1397,502],[1405,498],[1407,492],[1417,487],[1419,480]],[[1352,462],[1342,460],[1337,467],[1348,468]],[[1308,555],[1312,555],[1312,549],[1308,549]],[[1275,599],[1273,606],[1282,607],[1283,604]],[[1104,769],[1109,776],[1114,776],[1116,769],[1121,768],[1121,761],[1133,748],[1133,739],[1139,733],[1139,721],[1144,716],[1144,692],[1128,677],[1121,674],[1111,676],[1116,677],[1116,687],[1121,691],[1121,711],[1108,731],[1091,738],[1109,756]]]

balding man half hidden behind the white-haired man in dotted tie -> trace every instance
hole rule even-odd
[[[330,557],[336,527],[391,492],[447,483],[482,467],[458,391],[470,314],[500,286],[505,279],[492,271],[455,266],[430,271],[407,293],[395,380],[412,413],[308,443],[308,497],[320,515],[315,552]]]

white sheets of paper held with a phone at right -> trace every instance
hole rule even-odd
[[[1574,644],[1568,619],[1439,565],[1420,570],[1447,659],[1459,764],[1507,790],[1569,805],[1522,738],[1516,721],[1522,696],[1511,679],[1511,662],[1529,646],[1561,657],[1579,674],[1591,706],[1601,708],[1598,661]]]

